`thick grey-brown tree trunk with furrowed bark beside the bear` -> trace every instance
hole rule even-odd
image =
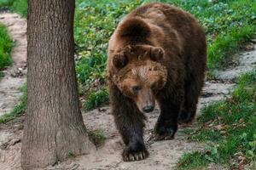
[[[74,0],[28,0],[27,107],[21,167],[87,154],[74,67]]]

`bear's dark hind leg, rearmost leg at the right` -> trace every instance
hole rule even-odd
[[[196,105],[201,94],[202,86],[203,78],[202,80],[189,81],[185,84],[183,106],[178,116],[179,124],[187,124],[193,122],[196,113]]]

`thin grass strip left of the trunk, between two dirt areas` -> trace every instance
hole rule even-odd
[[[9,122],[15,119],[16,116],[20,116],[20,114],[24,113],[26,110],[26,85],[20,87],[20,92],[22,93],[20,97],[20,104],[15,105],[15,108],[10,113],[7,113],[3,116],[0,116],[0,123]]]

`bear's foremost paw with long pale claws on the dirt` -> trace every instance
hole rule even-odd
[[[139,161],[148,157],[148,150],[143,144],[129,144],[122,156],[124,161]]]

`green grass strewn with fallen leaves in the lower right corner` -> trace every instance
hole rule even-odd
[[[238,156],[244,164],[256,161],[256,70],[238,79],[230,99],[204,108],[189,139],[208,146],[185,153],[177,169],[202,169],[210,162],[234,168]]]

